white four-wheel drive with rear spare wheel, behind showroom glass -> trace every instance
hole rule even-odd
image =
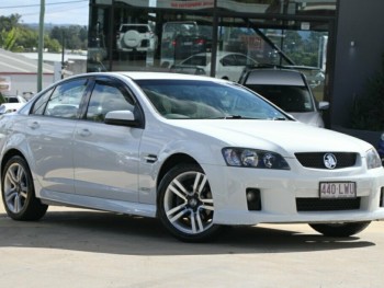
[[[121,24],[116,35],[120,51],[154,51],[158,37],[149,24]]]

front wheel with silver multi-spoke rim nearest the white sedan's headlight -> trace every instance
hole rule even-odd
[[[197,164],[177,165],[162,178],[158,216],[179,240],[204,242],[217,235],[213,223],[214,199],[208,180]]]

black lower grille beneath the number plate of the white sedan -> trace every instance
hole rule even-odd
[[[296,198],[297,211],[339,211],[360,209],[360,197],[353,199]]]

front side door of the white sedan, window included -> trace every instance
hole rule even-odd
[[[137,201],[142,129],[104,124],[110,111],[134,110],[121,83],[97,80],[75,130],[75,187],[82,196]]]

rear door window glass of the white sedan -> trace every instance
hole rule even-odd
[[[44,115],[61,118],[78,117],[87,82],[87,79],[80,79],[57,85],[46,105]]]

